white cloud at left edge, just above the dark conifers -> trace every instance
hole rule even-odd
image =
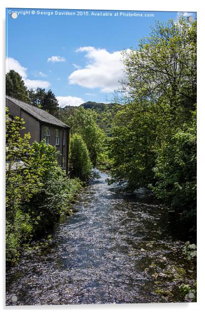
[[[8,73],[10,70],[14,70],[18,72],[18,74],[22,76],[25,86],[27,86],[28,88],[34,88],[34,89],[36,89],[37,87],[48,88],[50,86],[50,83],[48,81],[29,80],[28,74],[27,74],[27,68],[24,68],[23,66],[21,66],[20,63],[14,58],[6,59],[6,73]]]

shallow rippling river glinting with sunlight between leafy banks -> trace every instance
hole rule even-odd
[[[84,189],[52,242],[25,251],[8,270],[7,305],[184,301],[178,285],[193,282],[195,269],[167,208],[106,178],[100,173]]]

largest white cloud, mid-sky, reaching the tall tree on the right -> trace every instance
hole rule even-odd
[[[106,49],[80,47],[76,52],[85,52],[88,63],[84,69],[78,69],[69,75],[70,84],[100,88],[101,92],[107,93],[118,88],[118,81],[123,79],[121,51],[109,53]]]

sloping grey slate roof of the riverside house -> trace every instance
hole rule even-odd
[[[48,124],[54,124],[57,126],[61,127],[69,127],[67,124],[64,122],[60,121],[56,117],[52,116],[49,114],[47,111],[40,109],[36,106],[33,106],[33,104],[29,104],[27,102],[18,100],[16,98],[10,97],[6,95],[6,98],[13,103],[15,103],[18,107],[20,107],[23,111],[27,112],[37,120],[43,122],[43,123],[48,123]]]

